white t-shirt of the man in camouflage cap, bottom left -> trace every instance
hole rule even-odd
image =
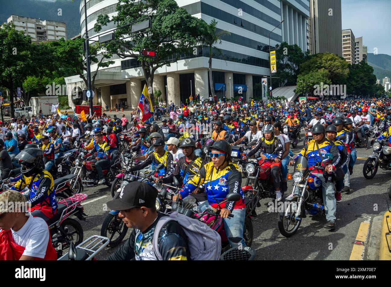
[[[11,229],[11,233],[14,242],[26,248],[23,255],[45,258],[49,241],[49,229],[45,220],[29,213],[25,225],[18,231]]]

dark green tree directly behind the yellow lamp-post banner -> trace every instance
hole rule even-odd
[[[309,59],[310,52],[308,50],[303,52],[298,45],[288,45],[287,42],[282,42],[281,45],[277,44],[275,49],[277,73],[274,74],[274,77],[279,78],[273,79],[273,82],[277,82],[279,87],[295,86],[299,66]]]

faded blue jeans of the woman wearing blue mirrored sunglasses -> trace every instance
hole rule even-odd
[[[204,211],[207,208],[212,208],[208,201],[197,206],[199,212]],[[246,247],[246,242],[243,239],[244,230],[244,218],[246,217],[245,208],[236,208],[232,211],[233,217],[224,218],[224,230],[225,235],[228,238],[231,248],[242,246]]]

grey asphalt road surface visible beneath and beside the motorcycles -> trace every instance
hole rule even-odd
[[[293,149],[297,153],[302,148],[299,144]],[[367,158],[370,150],[357,149],[357,157]],[[256,209],[258,217],[253,221],[254,241],[252,247],[257,250],[257,259],[279,260],[348,260],[353,242],[361,222],[371,224],[374,216],[387,210],[387,188],[391,184],[391,173],[378,170],[376,176],[367,180],[362,175],[365,159],[357,159],[351,178],[352,191],[342,194],[342,201],[337,204],[337,228],[334,231],[323,228],[326,223],[324,216],[308,216],[303,219],[298,232],[290,238],[283,237],[277,226],[278,213],[268,212],[269,199],[261,201],[261,207]],[[289,171],[293,171],[289,167]],[[291,193],[292,185],[288,184]],[[89,198],[84,201],[84,212],[88,214],[85,222],[84,239],[100,234],[101,225],[108,214],[106,202],[111,200],[110,189],[106,185],[84,189]],[[127,232],[128,238],[130,230]],[[123,241],[123,242],[124,242]],[[123,243],[122,242],[122,243]],[[98,258],[103,259],[113,253],[116,248],[106,248]]]

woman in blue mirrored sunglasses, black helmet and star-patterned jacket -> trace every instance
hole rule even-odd
[[[227,141],[215,141],[210,156],[212,161],[205,164],[199,173],[183,186],[178,196],[185,198],[203,184],[208,200],[199,205],[197,210],[202,212],[208,208],[221,209],[220,216],[224,219],[224,229],[231,247],[245,247],[243,230],[246,205],[241,189],[242,175],[239,167],[231,160],[231,145]],[[220,204],[228,193],[239,193],[242,198]],[[176,196],[172,200],[176,200]],[[233,214],[233,217],[228,218],[230,214]]]

